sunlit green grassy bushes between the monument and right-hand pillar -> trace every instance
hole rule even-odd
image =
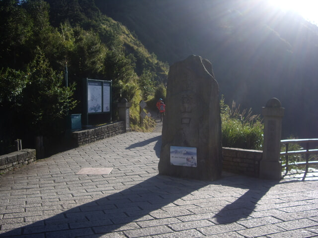
[[[221,102],[222,145],[241,149],[261,150],[264,125],[259,115],[252,115],[251,109],[239,111],[235,102],[232,108]]]

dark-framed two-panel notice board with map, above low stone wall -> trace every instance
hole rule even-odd
[[[88,114],[111,113],[112,81],[84,79],[85,85],[85,112]]]

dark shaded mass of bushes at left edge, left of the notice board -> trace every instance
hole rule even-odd
[[[0,88],[0,154],[8,152],[14,138],[32,143],[37,135],[60,135],[64,117],[77,104],[75,84],[65,87],[63,74],[40,50],[25,71],[0,69]]]

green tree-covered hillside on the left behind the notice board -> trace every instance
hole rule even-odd
[[[94,0],[0,0],[0,16],[2,154],[17,138],[24,148],[39,135],[60,140],[66,116],[82,113],[83,78],[112,80],[114,120],[122,98],[134,112],[164,87],[168,64]]]

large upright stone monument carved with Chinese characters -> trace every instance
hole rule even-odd
[[[159,174],[201,180],[221,177],[218,95],[210,61],[192,55],[170,66]]]

